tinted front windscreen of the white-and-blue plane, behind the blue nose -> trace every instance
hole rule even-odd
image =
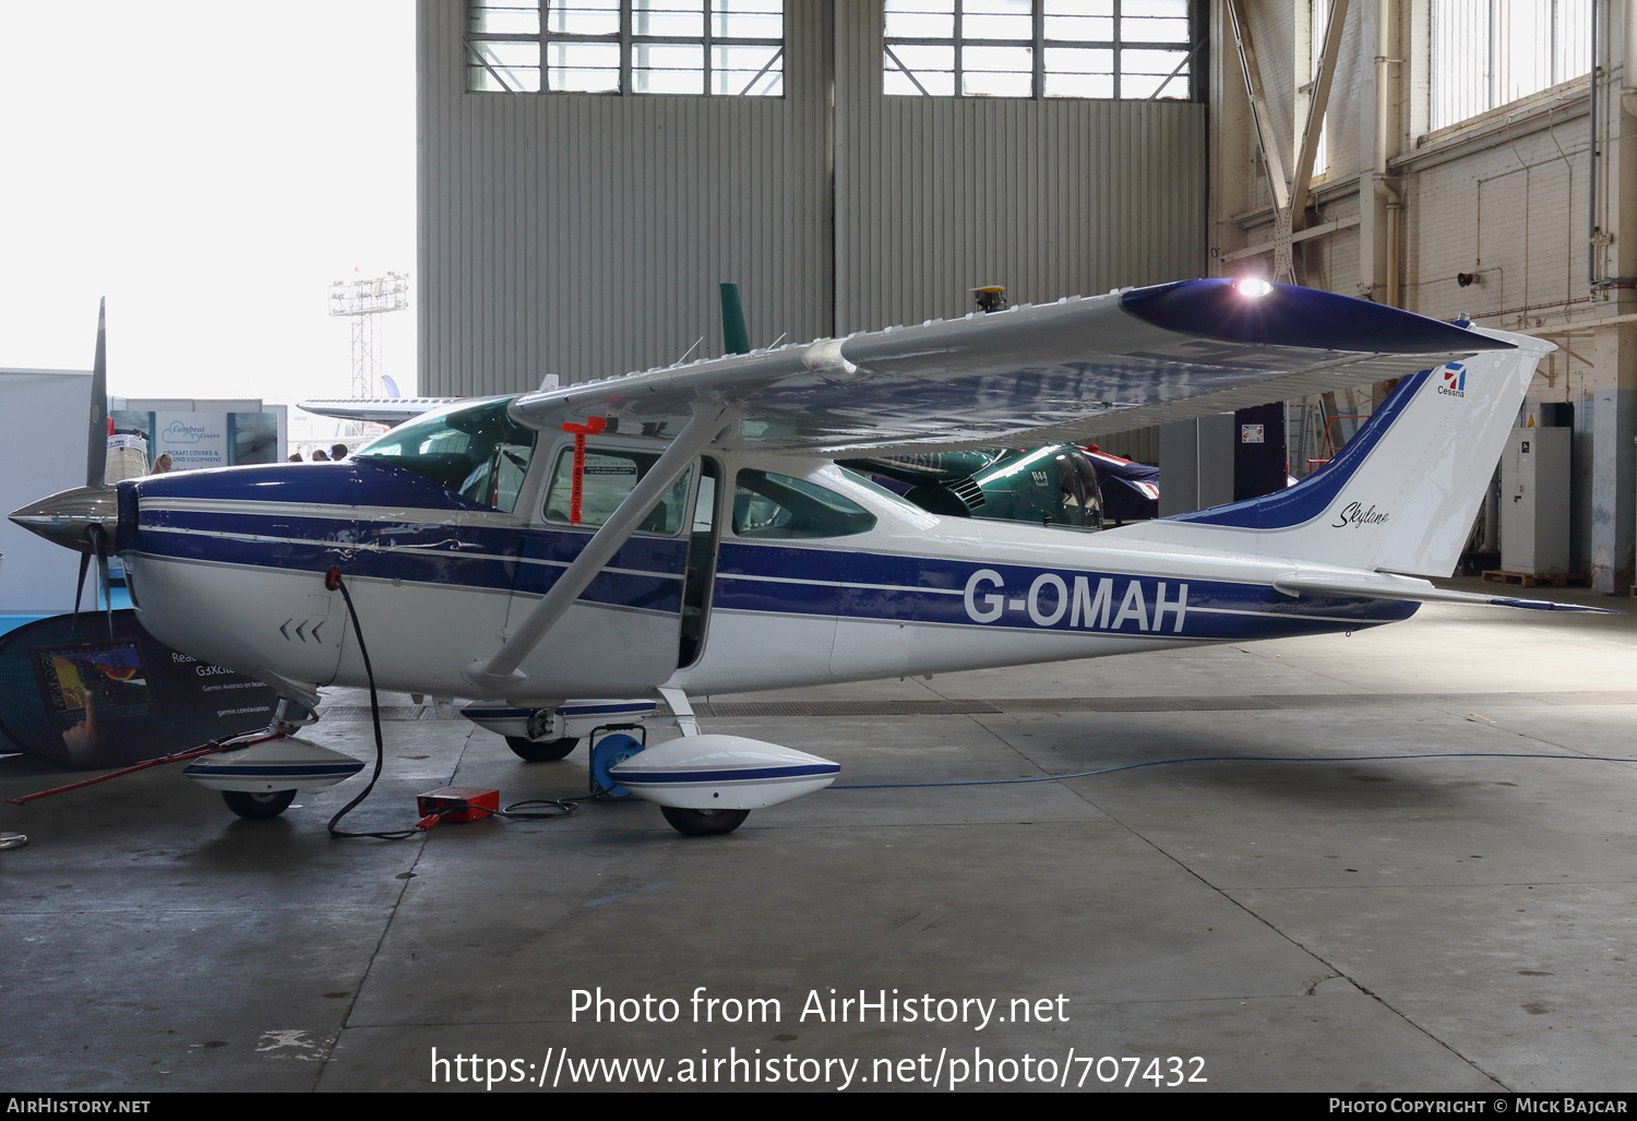
[[[535,430],[516,424],[509,401],[481,401],[399,424],[354,457],[381,460],[506,514],[534,458]]]

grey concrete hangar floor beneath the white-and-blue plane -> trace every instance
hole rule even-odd
[[[802,702],[704,723],[827,754],[853,784],[1305,761],[827,790],[704,840],[652,805],[586,804],[332,841],[359,779],[239,822],[146,771],[0,810],[31,836],[0,851],[0,1085],[470,1090],[498,1074],[496,1090],[550,1092],[586,1088],[586,1060],[653,1059],[663,1088],[1021,1088],[1026,1070],[1102,1090],[1131,1064],[1095,1059],[1141,1057],[1143,1090],[1144,1074],[1637,1088],[1637,768],[1408,758],[1637,756],[1634,615],[1424,607],[1352,637],[709,700]],[[313,738],[367,754],[370,725],[340,718],[359,694],[332,704]],[[386,743],[354,828],[403,826],[414,794],[450,782],[507,802],[586,787],[583,750],[524,764],[463,720],[393,720]],[[7,795],[56,779],[0,759]],[[576,1021],[573,990],[598,987],[674,998],[674,1021]],[[887,990],[889,1021],[856,1005],[832,1021],[832,988]],[[779,1002],[778,1021],[769,1003],[768,1021],[724,1023],[750,998]],[[935,1023],[907,1023],[910,998]]]

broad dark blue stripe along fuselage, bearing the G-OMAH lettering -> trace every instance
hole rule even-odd
[[[373,522],[311,507],[290,514],[144,509],[134,537],[136,551],[149,556],[309,573],[339,565],[362,578],[525,596],[543,594],[589,540],[583,530]],[[674,615],[686,553],[683,538],[632,537],[581,599]],[[1414,614],[1416,604],[1293,599],[1260,583],[724,540],[712,609],[1233,642],[1393,622]]]

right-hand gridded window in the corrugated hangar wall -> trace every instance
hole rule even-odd
[[[886,0],[882,92],[1193,97],[1188,0]]]

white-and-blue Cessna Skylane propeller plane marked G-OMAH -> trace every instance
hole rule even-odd
[[[380,687],[532,714],[543,741],[571,699],[663,692],[684,736],[611,774],[683,831],[727,831],[837,764],[699,735],[689,694],[1355,630],[1418,601],[1552,607],[1419,579],[1454,571],[1550,349],[1190,280],[462,401],[344,463],[149,476],[13,519],[118,553],[154,637],[278,689],[273,732],[311,720],[319,686],[367,681],[342,581]],[[1391,378],[1303,483],[1103,532],[938,517],[835,465]],[[362,766],[337,759],[286,736],[190,772],[277,813]]]

